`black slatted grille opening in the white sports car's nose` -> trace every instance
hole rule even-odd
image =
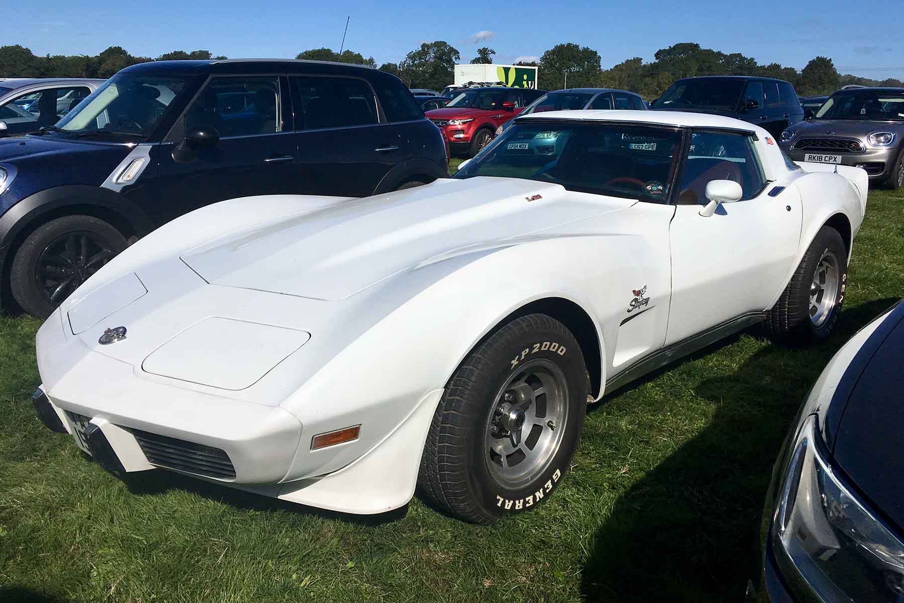
[[[127,429],[135,436],[138,446],[151,465],[178,469],[199,476],[235,479],[235,467],[229,455],[220,448],[167,438],[141,429]]]

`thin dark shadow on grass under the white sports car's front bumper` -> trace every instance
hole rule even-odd
[[[88,457],[90,458],[90,457]],[[229,504],[236,509],[248,511],[285,511],[287,513],[305,513],[324,519],[335,519],[345,523],[357,525],[381,525],[400,520],[408,513],[408,505],[373,515],[355,515],[352,513],[339,513],[318,509],[305,504],[290,503],[288,501],[258,495],[253,492],[237,490],[226,485],[212,484],[202,479],[166,471],[165,469],[152,469],[137,473],[127,474],[122,478],[128,491],[133,495],[160,495],[170,490],[182,490],[204,498]],[[2,599],[0,599],[2,600]]]

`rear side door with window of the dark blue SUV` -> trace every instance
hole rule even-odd
[[[289,81],[304,193],[363,197],[405,160],[399,130],[380,117],[368,81],[328,75]]]

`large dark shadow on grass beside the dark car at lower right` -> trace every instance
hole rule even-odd
[[[696,394],[717,405],[711,423],[617,500],[582,570],[584,597],[743,600],[759,575],[759,517],[790,421],[838,348],[895,301],[844,310],[823,344],[770,344],[701,382]]]

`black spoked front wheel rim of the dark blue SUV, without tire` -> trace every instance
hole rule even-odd
[[[56,306],[115,255],[104,237],[69,232],[42,251],[34,278],[44,300]]]

